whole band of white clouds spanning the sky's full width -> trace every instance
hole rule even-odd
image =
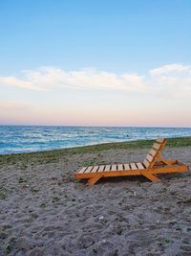
[[[191,66],[163,65],[149,70],[145,76],[94,68],[66,71],[49,66],[22,71],[17,77],[0,77],[0,84],[39,91],[95,89],[188,97],[191,95]]]

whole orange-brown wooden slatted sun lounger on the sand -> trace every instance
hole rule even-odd
[[[143,175],[151,181],[159,181],[158,174],[187,172],[189,167],[179,160],[166,160],[160,156],[165,145],[166,139],[157,139],[142,163],[82,167],[74,177],[88,178],[88,185],[94,185],[99,178],[107,176]]]

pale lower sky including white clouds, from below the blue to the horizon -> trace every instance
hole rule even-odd
[[[0,102],[0,124],[191,127],[191,67],[164,65],[148,74],[43,67],[26,78],[0,77],[9,96]]]

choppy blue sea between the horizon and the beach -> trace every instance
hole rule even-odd
[[[0,154],[191,136],[191,128],[0,126]]]

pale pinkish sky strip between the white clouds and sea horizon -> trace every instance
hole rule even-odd
[[[136,89],[114,89],[109,85],[108,88],[97,88],[94,85],[82,88],[55,86],[40,91],[5,85],[5,91],[12,91],[12,100],[15,95],[20,101],[0,103],[0,124],[191,127],[190,98],[184,91],[174,95],[171,91],[169,96],[166,92],[172,90],[170,86],[155,90],[146,81],[146,85],[131,82]],[[131,87],[131,84],[127,86]]]

